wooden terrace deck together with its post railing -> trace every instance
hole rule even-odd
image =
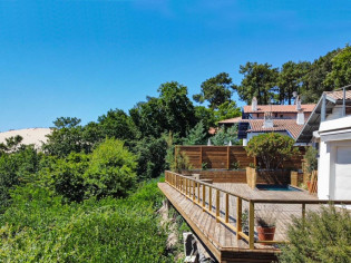
[[[158,187],[218,262],[276,261],[292,216],[304,217],[306,211],[329,203],[305,192],[272,193],[251,189],[246,184],[208,184],[173,172],[165,172],[165,183]],[[255,217],[264,215],[276,218],[274,241],[257,238]]]

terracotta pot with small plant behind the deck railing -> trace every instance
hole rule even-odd
[[[256,216],[256,230],[259,241],[273,241],[275,233],[276,216],[272,210],[263,210]]]

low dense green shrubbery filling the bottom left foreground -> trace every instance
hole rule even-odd
[[[0,216],[0,262],[173,262],[155,213],[160,196],[152,182],[126,199],[62,205],[39,185],[19,187]]]

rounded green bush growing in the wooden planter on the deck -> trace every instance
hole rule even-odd
[[[267,133],[254,136],[245,148],[248,156],[259,157],[260,166],[276,169],[283,162],[299,154],[294,147],[295,140],[289,136]]]

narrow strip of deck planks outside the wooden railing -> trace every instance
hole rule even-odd
[[[276,260],[275,253],[279,250],[275,247],[261,245],[256,250],[250,250],[246,241],[237,241],[234,231],[217,223],[213,215],[203,212],[201,206],[194,204],[177,189],[167,183],[159,183],[158,187],[220,262],[272,262]],[[233,214],[231,214],[230,221],[235,222]]]

